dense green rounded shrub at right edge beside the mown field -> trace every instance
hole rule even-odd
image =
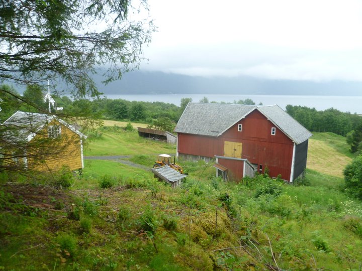
[[[357,156],[351,164],[347,165],[343,174],[347,191],[362,199],[362,155]]]

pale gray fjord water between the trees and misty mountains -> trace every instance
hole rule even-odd
[[[240,99],[252,99],[256,104],[278,104],[285,109],[286,105],[301,105],[314,107],[317,110],[335,108],[342,112],[362,114],[362,96],[302,96],[302,95],[233,95],[233,94],[158,94],[158,95],[116,95],[108,94],[110,99],[124,99],[129,101],[160,101],[180,105],[182,98],[192,98],[193,102],[207,97],[209,101],[233,102]]]

